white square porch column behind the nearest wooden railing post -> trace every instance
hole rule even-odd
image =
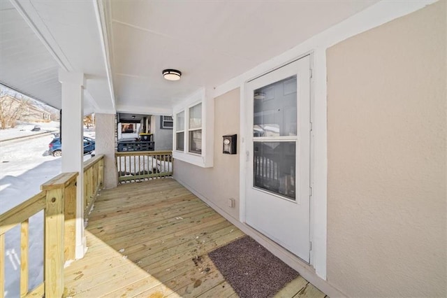
[[[84,73],[59,69],[62,85],[62,172],[78,172],[76,191],[75,258],[84,257],[87,243],[84,236]]]

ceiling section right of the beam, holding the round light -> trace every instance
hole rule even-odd
[[[111,1],[117,106],[175,106],[375,2]],[[163,69],[182,71],[182,79],[164,80]]]

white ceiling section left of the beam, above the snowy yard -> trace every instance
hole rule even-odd
[[[0,83],[61,107],[59,69],[85,73],[84,111],[115,111],[94,1],[0,1]]]

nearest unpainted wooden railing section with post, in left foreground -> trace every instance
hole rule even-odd
[[[5,233],[20,225],[20,297],[61,297],[64,262],[75,258],[76,177],[61,173],[41,185],[41,192],[0,215],[0,297],[5,285]],[[44,213],[44,281],[29,291],[29,218]],[[72,233],[73,232],[73,233]]]

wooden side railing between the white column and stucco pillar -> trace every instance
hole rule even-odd
[[[104,155],[96,155],[84,162],[84,214],[87,217],[96,194],[104,184]]]

